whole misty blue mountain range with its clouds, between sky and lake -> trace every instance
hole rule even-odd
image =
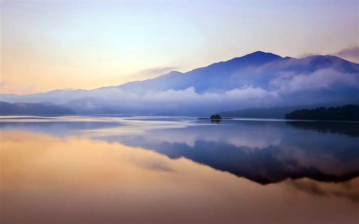
[[[358,86],[359,64],[342,58],[314,55],[297,59],[257,51],[186,73],[172,71],[119,86],[3,94],[2,99],[12,103],[52,101],[84,114],[206,116],[254,107],[358,104]]]

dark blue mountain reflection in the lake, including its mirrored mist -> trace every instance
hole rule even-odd
[[[143,147],[170,158],[184,156],[262,184],[302,177],[346,181],[359,175],[357,139],[303,132],[284,123],[191,126],[100,139]]]

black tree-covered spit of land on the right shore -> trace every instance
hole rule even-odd
[[[285,115],[286,119],[293,120],[341,120],[359,121],[359,107],[356,105],[346,105],[343,107],[320,107],[316,109],[295,110]]]

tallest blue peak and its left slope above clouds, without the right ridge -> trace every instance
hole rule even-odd
[[[194,69],[190,72],[181,73],[172,71],[166,75],[142,82],[131,82],[118,86],[123,91],[167,91],[185,90],[194,87],[196,93],[216,92],[223,93],[244,85],[262,83],[252,70],[283,59],[281,56],[264,53],[261,51],[248,54],[244,57],[236,57],[227,62],[214,63],[204,68]],[[235,81],[235,82],[234,82]]]

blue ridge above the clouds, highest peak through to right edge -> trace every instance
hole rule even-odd
[[[205,93],[225,92],[247,85],[269,90],[273,85],[271,80],[285,72],[310,74],[328,68],[342,73],[358,72],[357,64],[335,56],[296,59],[258,51],[186,73],[173,71],[157,78],[127,83],[116,88],[124,91],[166,91],[194,87],[197,93]]]

